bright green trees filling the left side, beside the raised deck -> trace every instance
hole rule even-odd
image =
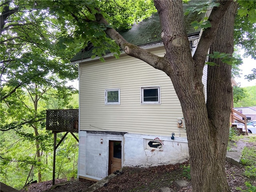
[[[0,4],[0,179],[21,188],[38,172],[43,179],[52,177],[48,155],[52,156],[53,135],[45,130],[45,110],[69,104],[72,88],[64,84],[77,78],[77,71],[67,63],[80,42],[70,38],[62,18],[42,10],[40,3]]]

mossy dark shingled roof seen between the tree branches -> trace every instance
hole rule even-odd
[[[193,2],[193,1],[190,1]],[[192,5],[191,5],[192,4]],[[189,6],[193,6],[193,3],[184,4],[183,10],[186,11],[186,9]],[[204,18],[205,14],[201,13],[198,14],[197,12],[190,12],[187,16],[184,17],[184,22],[186,26],[186,32],[188,35],[190,34],[196,34],[200,32],[200,29],[194,30],[194,28],[191,26],[191,22],[193,21],[200,21],[202,18]],[[158,13],[152,15],[150,18],[147,18],[139,23],[135,23],[132,25],[132,28],[125,32],[119,32],[124,39],[126,39],[128,42],[135,44],[137,46],[142,46],[146,44],[151,44],[155,42],[161,42],[161,25]],[[88,51],[80,51],[78,52],[70,61],[78,61],[86,58],[90,58],[92,55],[93,48],[91,48]],[[110,53],[109,51],[106,51],[106,53]]]

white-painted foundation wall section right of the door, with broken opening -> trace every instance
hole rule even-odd
[[[157,138],[157,139],[156,139]],[[163,143],[160,149],[148,146],[149,141]],[[166,136],[140,134],[124,135],[123,166],[158,166],[161,164],[176,164],[188,160],[188,140]]]

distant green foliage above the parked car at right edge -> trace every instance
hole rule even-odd
[[[256,106],[256,86],[244,87],[244,92],[246,92],[246,97],[238,100],[234,103],[234,107],[252,107]]]

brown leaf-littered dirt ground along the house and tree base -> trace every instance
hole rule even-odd
[[[178,190],[173,183],[174,180],[186,179],[182,175],[182,166],[187,164],[188,162],[150,168],[123,168],[122,175],[112,178],[105,186],[94,192],[159,192],[161,187],[169,187],[173,192],[191,192],[191,186]],[[245,189],[244,182],[249,179],[243,173],[243,167],[226,163],[227,179],[232,192],[240,191],[236,187]],[[55,183],[62,185],[50,189],[52,181],[35,183],[28,186],[27,192],[82,192],[94,184],[93,181],[77,179],[68,182],[65,179],[58,179]]]

